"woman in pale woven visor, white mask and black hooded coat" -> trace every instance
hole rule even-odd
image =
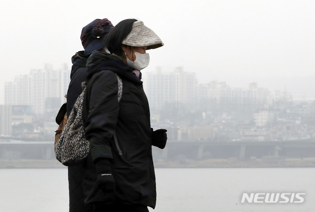
[[[127,19],[107,35],[112,54],[95,51],[87,61],[83,116],[90,152],[83,190],[94,212],[156,206],[152,145],[164,148],[167,137],[165,129],[151,129],[139,71],[149,63],[146,51],[162,45],[142,21]]]

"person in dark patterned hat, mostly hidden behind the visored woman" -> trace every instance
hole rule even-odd
[[[75,100],[82,92],[82,82],[86,81],[86,62],[94,50],[105,51],[103,39],[114,26],[108,19],[95,19],[82,29],[81,41],[84,51],[79,51],[71,58],[72,68],[67,91],[67,116],[69,117]],[[84,204],[82,189],[84,163],[68,166],[69,212],[90,212],[91,206]]]

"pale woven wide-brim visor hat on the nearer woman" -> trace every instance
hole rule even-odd
[[[144,26],[143,21],[135,21],[132,30],[123,40],[122,44],[134,47],[147,46],[147,50],[163,46],[163,42],[151,29]]]

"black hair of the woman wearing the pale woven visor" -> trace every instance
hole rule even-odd
[[[111,54],[122,56],[122,42],[132,30],[133,23],[136,19],[126,19],[119,22],[106,36],[105,47]]]

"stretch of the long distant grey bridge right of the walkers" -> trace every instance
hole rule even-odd
[[[157,151],[157,150],[154,150]],[[315,140],[299,141],[168,141],[160,151],[162,159],[211,159],[252,157],[315,157]]]

